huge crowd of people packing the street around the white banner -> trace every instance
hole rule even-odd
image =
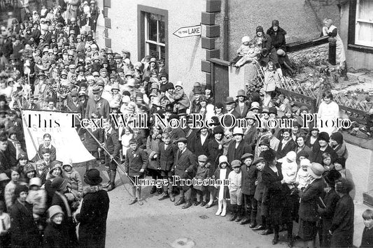
[[[152,187],[150,194],[158,194],[158,200],[169,199],[183,209],[217,204],[216,216],[231,212],[230,221],[248,224],[262,235],[274,233],[273,245],[279,242],[279,232],[287,230],[289,247],[293,233],[308,247],[314,247],[317,234],[322,247],[352,247],[349,152],[339,130],[321,130],[313,122],[302,126],[302,114],[311,112],[307,107],[277,101],[281,100],[276,95],[276,81],[282,77],[279,64],[291,73],[286,47],[280,42],[276,48],[271,45],[276,37],[285,44],[286,31],[278,21],[272,22],[267,34],[258,27],[255,42],[244,37],[251,57],[239,52],[232,63],[260,61],[267,67],[265,89],[241,89],[236,99],[227,96],[221,103],[214,100],[211,85],[195,82],[192,91],[185,92],[189,82],[169,82],[162,60],[146,56],[132,61],[127,50],[99,49],[94,40],[99,15],[95,2],[81,6],[67,2],[32,14],[22,6],[18,19],[9,13],[8,27],[1,27],[1,247],[104,247],[107,191],[115,189],[118,166],[132,183],[130,205],[143,205],[136,182],[151,177],[169,182]],[[257,44],[262,48],[258,50]],[[282,63],[277,56],[283,57]],[[323,93],[320,117],[339,115],[332,99],[330,92]],[[22,109],[72,111],[82,118],[104,119],[103,129],[77,126],[83,144],[96,158],[87,161],[84,180],[69,158],[56,160],[59,151],[49,133],[37,144],[37,155],[27,156],[33,147],[26,147]],[[135,113],[148,116],[143,122],[150,129],[136,128]],[[119,124],[113,124],[111,116],[120,114],[133,122],[125,124],[118,118]],[[159,124],[154,114],[169,122]],[[190,114],[211,122],[196,129]],[[247,126],[227,128],[232,119],[225,114],[244,119]],[[259,128],[258,116],[264,123],[295,122],[290,129],[267,124]],[[172,119],[186,125],[171,127]],[[99,163],[108,174],[106,184],[101,184],[95,168]],[[183,180],[214,183],[187,185]],[[363,218],[367,227],[362,247],[369,247],[372,211],[365,211]],[[294,221],[300,226],[295,232]]]

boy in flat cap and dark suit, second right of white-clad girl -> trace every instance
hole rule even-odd
[[[242,178],[242,198],[244,200],[244,219],[241,221],[241,225],[250,223],[249,227],[253,228],[256,226],[256,214],[258,211],[258,203],[256,202],[255,195],[255,182],[258,176],[258,170],[253,165],[254,155],[246,153],[241,156],[243,166],[241,167],[241,178]],[[237,221],[237,220],[236,220]]]

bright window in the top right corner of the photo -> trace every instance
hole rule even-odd
[[[355,44],[373,47],[373,0],[357,0]]]

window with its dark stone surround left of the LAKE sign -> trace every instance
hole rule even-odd
[[[137,5],[137,34],[139,60],[150,55],[164,61],[168,73],[168,10]]]

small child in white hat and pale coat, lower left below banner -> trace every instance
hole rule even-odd
[[[41,180],[38,177],[31,178],[29,182],[29,194],[26,198],[27,203],[32,204],[32,214],[37,221],[45,212],[47,203],[47,193],[41,189]]]

